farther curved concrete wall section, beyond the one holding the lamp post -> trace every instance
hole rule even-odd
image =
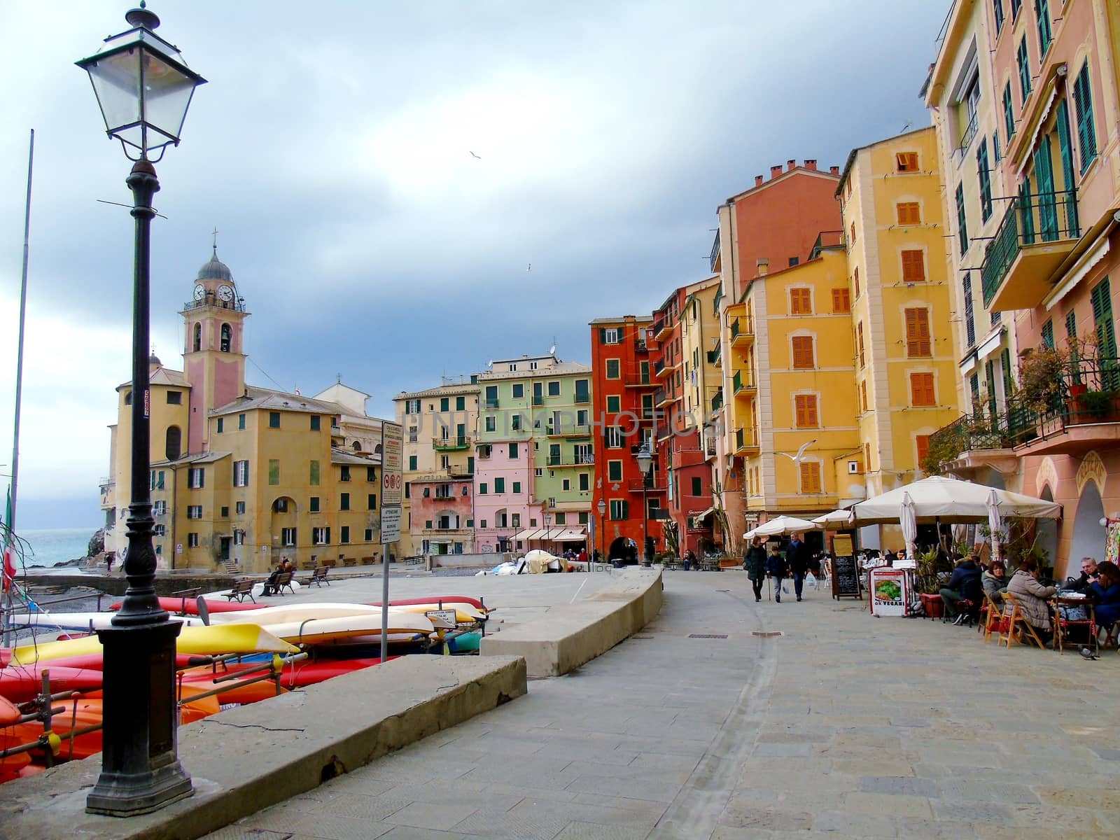
[[[661,610],[660,569],[628,569],[586,600],[484,636],[483,656],[522,656],[530,676],[557,676],[609,651]]]

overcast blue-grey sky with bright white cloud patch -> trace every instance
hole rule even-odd
[[[156,0],[208,80],[158,166],[156,353],[181,367],[177,312],[217,227],[253,384],[342,375],[390,414],[401,390],[553,337],[589,362],[588,320],[706,277],[716,207],[756,174],[927,124],[949,6]],[[0,2],[0,464],[34,128],[20,497],[81,498],[78,525],[130,371],[132,220],[96,200],[131,200],[130,164],[74,62],[127,8]]]

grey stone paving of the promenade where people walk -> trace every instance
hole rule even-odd
[[[866,610],[668,572],[579,671],[209,838],[1120,836],[1120,655]]]

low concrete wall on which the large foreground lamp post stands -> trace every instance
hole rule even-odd
[[[524,693],[515,656],[404,656],[180,728],[195,794],[152,814],[85,813],[100,755],[0,785],[0,837],[193,840]]]

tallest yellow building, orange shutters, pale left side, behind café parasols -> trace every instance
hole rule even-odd
[[[940,162],[934,129],[920,129],[853,149],[837,190],[861,456],[852,460],[868,496],[921,478],[930,436],[960,416]]]

